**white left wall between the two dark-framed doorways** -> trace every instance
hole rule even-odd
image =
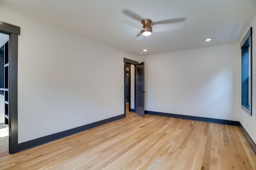
[[[137,57],[8,10],[0,16],[21,27],[18,143],[124,113],[123,58]]]

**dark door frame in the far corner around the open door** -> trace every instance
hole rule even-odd
[[[126,85],[126,64],[133,64],[135,65],[134,67],[134,112],[136,113],[136,65],[139,64],[138,61],[130,60],[124,58],[124,115],[126,115],[126,90],[125,90],[125,85]],[[130,108],[130,107],[129,107]]]

